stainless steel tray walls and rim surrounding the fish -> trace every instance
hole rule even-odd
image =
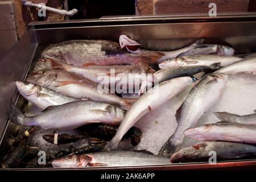
[[[15,132],[16,126],[7,119],[10,100],[17,101],[19,98],[15,81],[26,78],[32,60],[39,53],[36,52],[39,45],[72,39],[117,41],[119,35],[125,34],[131,39],[138,40],[146,49],[177,49],[204,37],[205,42],[230,45],[236,49],[236,53],[256,52],[256,14],[251,13],[220,14],[213,18],[204,14],[102,17],[58,23],[36,22],[29,26],[30,29],[23,38],[0,60],[0,151],[5,150],[7,136]],[[19,100],[19,104],[26,105],[26,102]],[[216,169],[251,166],[256,166],[256,159],[217,164],[189,163],[107,169]],[[106,168],[77,170],[96,169]]]

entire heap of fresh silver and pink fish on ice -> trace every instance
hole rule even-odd
[[[204,162],[212,150],[218,160],[255,157],[255,114],[219,112],[221,122],[195,127],[220,100],[230,75],[256,73],[254,55],[233,56],[233,48],[203,41],[175,51],[140,49],[125,35],[119,44],[109,40],[55,44],[44,49],[27,82],[16,82],[20,94],[42,111],[28,116],[11,103],[9,118],[20,126],[60,130],[42,136],[52,144],[88,138],[91,146],[56,154],[50,160],[53,167]],[[176,112],[177,128],[158,155],[117,150],[124,138],[137,146],[143,133],[135,123],[174,98],[183,102]],[[63,133],[75,129],[86,135]],[[96,139],[92,144],[104,136],[104,142]],[[185,137],[206,142],[183,148]]]

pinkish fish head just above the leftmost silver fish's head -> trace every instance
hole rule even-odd
[[[26,81],[32,84],[47,87],[53,80],[56,80],[57,73],[51,70],[40,70],[30,74]]]

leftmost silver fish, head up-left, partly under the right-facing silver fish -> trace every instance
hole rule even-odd
[[[61,105],[81,100],[79,98],[65,96],[59,92],[23,81],[16,81],[16,87],[19,90],[19,93],[26,98],[26,100],[32,102],[40,109],[46,109],[46,107],[52,105]]]

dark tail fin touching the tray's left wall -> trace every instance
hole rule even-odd
[[[22,113],[22,111],[19,110],[19,108],[14,104],[13,101],[11,101],[11,109],[9,111],[9,119],[14,122],[16,125],[21,126],[35,126],[31,122],[31,118],[26,117]]]

